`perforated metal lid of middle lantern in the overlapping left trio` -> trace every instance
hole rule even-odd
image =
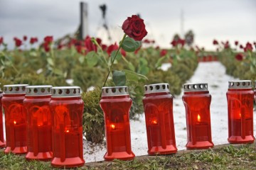
[[[53,86],[41,85],[41,86],[26,86],[26,96],[46,96],[50,95],[50,89]]]

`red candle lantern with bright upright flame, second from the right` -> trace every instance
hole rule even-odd
[[[210,101],[208,84],[184,84],[182,97],[186,108],[187,149],[213,147],[210,129]]]

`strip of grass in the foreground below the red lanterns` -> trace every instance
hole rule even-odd
[[[86,160],[85,160],[86,161]],[[27,162],[23,156],[0,154],[0,169],[52,169],[49,162]],[[220,147],[200,152],[88,164],[79,169],[256,169],[256,145]]]

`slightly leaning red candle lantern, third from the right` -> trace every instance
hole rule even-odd
[[[150,84],[144,88],[143,104],[148,153],[176,153],[173,97],[169,91],[169,84]]]

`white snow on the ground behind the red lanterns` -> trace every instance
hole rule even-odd
[[[228,104],[225,94],[230,80],[234,78],[225,74],[225,67],[220,62],[200,62],[193,77],[187,81],[187,83],[208,83],[208,90],[212,96],[210,118],[214,145],[228,143]],[[187,142],[186,113],[182,96],[183,92],[174,98],[174,127],[178,150],[186,149]],[[139,117],[139,120],[130,120],[130,125],[132,151],[136,156],[147,154],[144,114]],[[256,116],[254,117],[254,134],[256,134]],[[84,143],[85,162],[104,160],[105,142],[103,145],[94,145],[94,147],[86,140]]]

